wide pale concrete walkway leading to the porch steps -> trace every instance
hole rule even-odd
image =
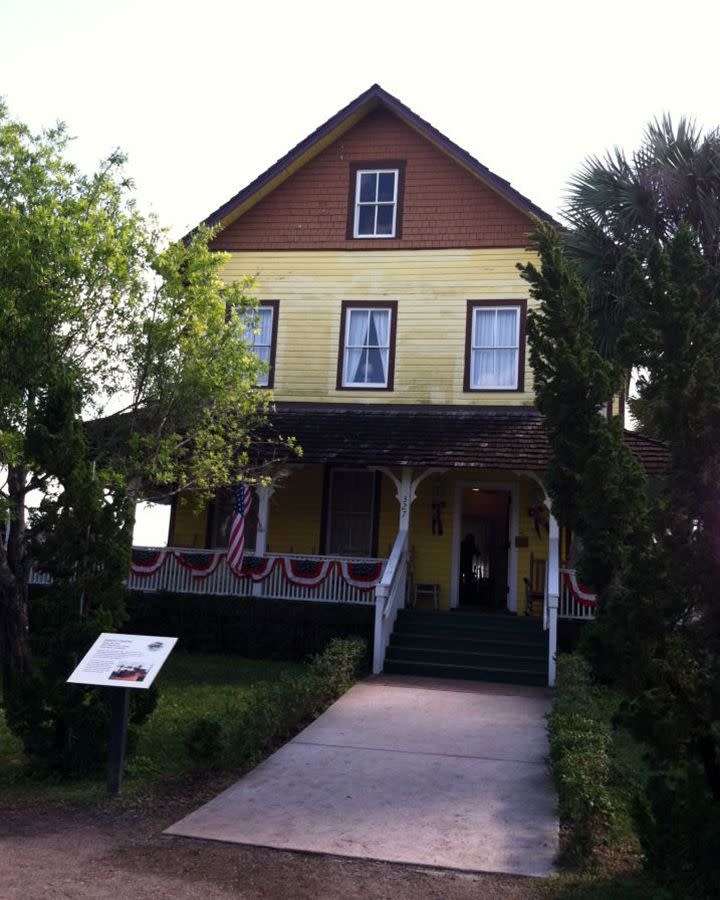
[[[548,875],[558,847],[549,706],[539,688],[369,679],[167,833]]]

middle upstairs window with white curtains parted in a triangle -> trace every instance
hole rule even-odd
[[[395,307],[343,304],[339,388],[392,389]]]

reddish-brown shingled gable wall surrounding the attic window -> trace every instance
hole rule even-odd
[[[357,163],[401,160],[402,236],[353,238]],[[384,165],[383,165],[384,167]],[[351,196],[352,195],[352,196]],[[527,215],[434,144],[378,108],[260,200],[213,242],[215,250],[424,250],[522,247]]]

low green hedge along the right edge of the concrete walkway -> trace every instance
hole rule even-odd
[[[568,826],[566,853],[573,861],[586,862],[612,821],[613,739],[600,691],[580,656],[558,660],[548,735],[550,771]]]

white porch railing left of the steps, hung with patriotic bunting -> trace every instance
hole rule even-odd
[[[349,584],[343,577],[340,567],[331,565],[325,580],[316,586],[297,584],[290,581],[281,565],[272,566],[270,574],[260,581],[252,578],[239,578],[229,568],[225,558],[225,550],[199,550],[197,548],[179,547],[135,547],[135,550],[147,550],[150,553],[165,551],[164,560],[154,572],[138,574],[130,572],[127,586],[133,591],[155,593],[169,591],[177,594],[207,594],[233,597],[265,597],[269,600],[308,600],[313,603],[351,603],[370,606],[375,602],[375,588]],[[208,564],[210,574],[199,575],[178,559],[176,552],[189,555],[203,555],[211,560]],[[248,554],[250,555],[250,554]],[[254,554],[252,554],[254,555]],[[310,560],[335,563],[335,557],[316,556],[301,553],[266,553],[263,560]],[[343,557],[343,563],[380,563],[381,577],[386,568],[386,560],[368,557]],[[31,570],[30,584],[50,584],[50,576],[43,572]]]

